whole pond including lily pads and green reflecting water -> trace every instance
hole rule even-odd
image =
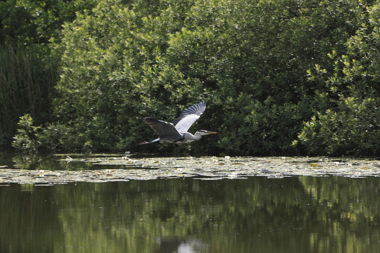
[[[380,252],[377,159],[123,158],[1,154],[0,252]]]

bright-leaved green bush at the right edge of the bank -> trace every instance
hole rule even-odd
[[[365,10],[345,52],[332,51],[328,64],[309,71],[310,81],[325,91],[316,96],[315,114],[294,144],[305,145],[310,153],[380,154],[380,5]]]

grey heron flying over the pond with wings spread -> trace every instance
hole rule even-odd
[[[202,135],[217,134],[206,130],[196,131],[194,135],[187,132],[192,124],[202,115],[204,110],[206,110],[206,101],[190,106],[184,110],[173,123],[158,120],[154,115],[144,118],[145,122],[158,134],[159,138],[150,142],[144,141],[139,143],[139,145],[157,141],[182,144],[197,141]]]

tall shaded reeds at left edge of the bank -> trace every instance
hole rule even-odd
[[[36,125],[48,119],[56,69],[46,45],[0,45],[0,150],[10,147],[24,113],[30,113]]]

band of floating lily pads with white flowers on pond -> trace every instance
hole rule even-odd
[[[91,155],[73,159],[61,156],[63,163],[80,162],[83,168],[97,165],[97,170],[25,170],[0,166],[0,184],[9,182],[30,184],[62,184],[67,182],[107,182],[149,180],[157,178],[195,177],[202,180],[236,179],[246,176],[284,178],[294,175],[345,176],[363,178],[380,176],[377,159],[331,159],[305,157],[162,157],[139,158]],[[338,160],[338,161],[337,161]],[[99,168],[103,167],[104,169]],[[111,167],[110,167],[111,166]],[[17,164],[15,165],[17,168]]]

